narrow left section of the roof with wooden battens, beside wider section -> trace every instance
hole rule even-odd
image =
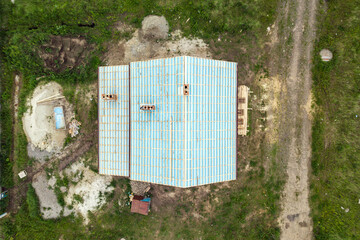
[[[101,94],[117,94],[106,101]],[[99,173],[129,176],[129,66],[99,68]]]

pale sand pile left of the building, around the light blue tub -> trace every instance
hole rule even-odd
[[[67,135],[65,129],[56,129],[54,121],[54,107],[63,106],[65,123],[75,117],[73,107],[65,98],[50,103],[38,103],[39,101],[60,94],[62,87],[56,82],[50,82],[38,86],[28,100],[28,110],[23,116],[23,128],[31,149],[37,148],[47,152],[56,152],[62,149]]]

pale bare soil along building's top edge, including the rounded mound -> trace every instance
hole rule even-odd
[[[209,46],[202,39],[182,37],[179,30],[172,32],[171,37],[168,37],[169,25],[164,17],[149,16],[142,23],[142,29],[136,30],[130,40],[121,40],[108,47],[109,51],[105,56],[108,65],[184,55],[211,57]],[[129,28],[120,23],[117,26],[123,29]],[[166,39],[166,41],[158,41],[158,39]]]

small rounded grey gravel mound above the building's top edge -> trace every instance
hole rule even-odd
[[[169,24],[164,16],[150,15],[142,21],[142,33],[147,39],[166,39],[169,34]]]

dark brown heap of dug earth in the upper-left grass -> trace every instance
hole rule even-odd
[[[47,69],[61,72],[84,64],[91,49],[84,38],[51,36],[50,41],[40,47],[39,56]]]

